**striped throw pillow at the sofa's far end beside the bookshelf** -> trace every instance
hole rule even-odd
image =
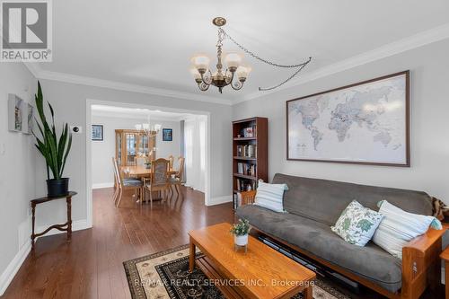
[[[284,212],[282,199],[286,184],[267,184],[259,181],[254,205],[265,207],[275,212]]]

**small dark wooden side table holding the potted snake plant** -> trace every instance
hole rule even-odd
[[[57,198],[36,198],[31,200],[31,213],[32,213],[32,232],[31,232],[31,249],[34,249],[34,239],[40,237],[48,233],[51,229],[56,228],[59,231],[67,232],[67,241],[70,241],[72,238],[72,197],[77,193],[74,191],[68,192],[67,195],[63,195]],[[36,215],[36,206],[39,204],[43,204],[44,202],[53,201],[61,198],[66,198],[67,203],[67,222],[65,224],[55,224],[48,227],[42,233],[34,233],[34,223],[35,223],[35,215]]]

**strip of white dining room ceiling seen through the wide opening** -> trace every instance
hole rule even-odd
[[[101,117],[124,118],[146,120],[169,120],[180,121],[189,119],[193,115],[189,113],[178,113],[172,111],[149,110],[143,108],[128,108],[110,105],[92,105],[92,115]]]

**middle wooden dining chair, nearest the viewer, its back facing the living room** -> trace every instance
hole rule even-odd
[[[151,175],[149,178],[144,178],[144,189],[150,192],[150,207],[153,207],[153,192],[161,191],[166,197],[166,191],[169,190],[169,165],[170,162],[166,159],[154,160],[151,164]],[[146,200],[145,200],[146,201]]]

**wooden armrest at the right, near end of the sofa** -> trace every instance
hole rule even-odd
[[[430,228],[427,233],[408,242],[402,248],[402,288],[401,298],[418,298],[426,287],[438,286],[441,280],[442,237],[448,229]]]

